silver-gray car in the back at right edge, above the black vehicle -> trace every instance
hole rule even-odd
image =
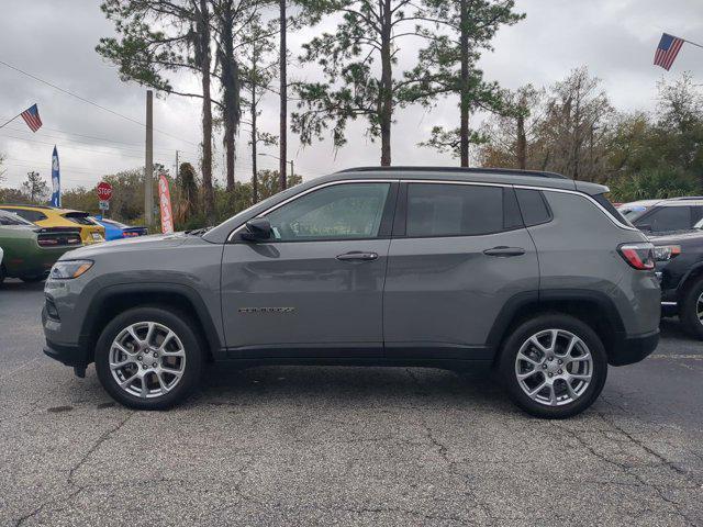
[[[703,197],[634,201],[617,210],[645,233],[690,231],[703,220]]]

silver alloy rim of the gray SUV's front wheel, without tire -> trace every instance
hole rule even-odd
[[[154,399],[170,392],[186,371],[186,350],[178,335],[164,324],[138,322],[112,341],[110,371],[126,393]]]

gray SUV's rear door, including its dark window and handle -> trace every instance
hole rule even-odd
[[[539,270],[512,187],[408,182],[389,250],[389,357],[483,359],[511,298],[537,294]]]

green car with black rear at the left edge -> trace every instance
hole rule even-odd
[[[16,214],[0,211],[0,283],[20,278],[25,282],[43,280],[64,253],[80,247],[75,227],[37,227]]]

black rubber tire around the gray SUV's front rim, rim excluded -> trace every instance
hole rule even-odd
[[[178,383],[154,399],[143,399],[120,388],[110,370],[110,348],[113,340],[131,324],[155,322],[172,330],[183,346],[186,363]],[[200,381],[203,349],[191,329],[193,323],[185,313],[163,306],[135,307],[115,316],[102,330],[96,347],[96,371],[105,391],[118,402],[136,410],[167,410],[182,402]]]

